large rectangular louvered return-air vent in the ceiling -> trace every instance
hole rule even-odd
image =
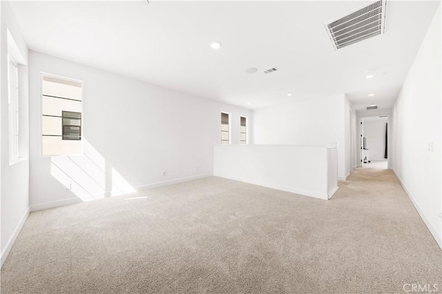
[[[386,0],[379,0],[350,14],[325,23],[335,50],[385,32]]]

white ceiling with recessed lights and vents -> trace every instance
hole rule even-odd
[[[32,50],[256,109],[347,93],[390,108],[439,2],[387,1],[385,35],[335,51],[323,23],[369,1],[13,1]],[[222,48],[213,50],[212,41]],[[271,67],[278,72],[262,73]],[[258,68],[247,74],[250,67]],[[374,69],[375,77],[365,79]],[[367,97],[369,92],[376,96]],[[287,97],[287,93],[293,94]]]

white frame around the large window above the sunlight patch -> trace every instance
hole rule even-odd
[[[70,77],[64,77],[61,75],[54,75],[48,72],[40,72],[40,112],[39,112],[39,120],[40,120],[40,131],[39,131],[39,157],[57,157],[57,156],[77,156],[77,155],[43,155],[43,79],[44,77],[54,77],[56,79],[66,79],[67,81],[73,81],[75,83],[81,84],[81,140],[73,140],[80,141],[81,144],[81,152],[78,155],[82,155],[84,153],[84,138],[83,138],[83,128],[84,128],[84,82],[79,79],[73,79]],[[61,119],[63,121],[63,119]],[[63,131],[63,128],[61,128]]]

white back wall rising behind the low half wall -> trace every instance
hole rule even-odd
[[[345,95],[319,98],[294,98],[285,104],[253,110],[253,144],[308,145],[339,142],[338,177],[344,179],[346,168],[345,128],[349,104]],[[347,111],[346,111],[347,110]]]

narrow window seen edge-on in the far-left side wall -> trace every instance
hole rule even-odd
[[[19,159],[19,67],[8,55],[9,160]]]

